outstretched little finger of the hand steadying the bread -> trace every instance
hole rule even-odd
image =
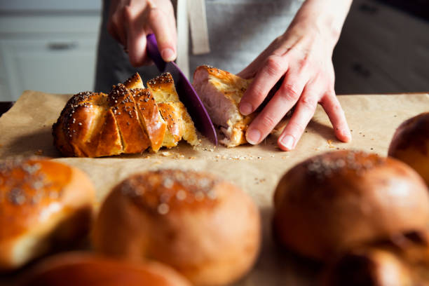
[[[350,128],[348,128],[346,116],[341,108],[341,104],[336,98],[335,92],[331,91],[327,93],[322,97],[320,104],[323,109],[325,109],[325,112],[334,127],[336,137],[342,142],[349,142],[352,139]]]

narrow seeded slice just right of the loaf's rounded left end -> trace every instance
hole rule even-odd
[[[115,86],[109,94],[113,111],[121,134],[123,153],[141,153],[150,146],[149,137],[142,129],[134,97],[123,84]]]

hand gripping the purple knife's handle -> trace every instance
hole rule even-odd
[[[150,64],[146,36],[155,34],[165,62],[177,56],[175,12],[170,0],[112,0],[107,31],[128,51],[134,67]]]

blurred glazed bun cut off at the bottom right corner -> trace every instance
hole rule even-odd
[[[429,233],[397,233],[346,251],[322,271],[324,286],[429,284]]]

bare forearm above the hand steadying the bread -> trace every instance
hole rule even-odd
[[[306,0],[290,25],[295,32],[311,29],[334,48],[352,0]]]

